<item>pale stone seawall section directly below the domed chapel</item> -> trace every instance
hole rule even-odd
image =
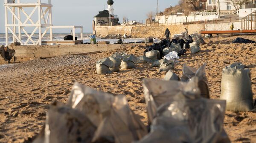
[[[134,26],[96,26],[97,36],[108,36],[108,35],[131,35],[131,30]]]

